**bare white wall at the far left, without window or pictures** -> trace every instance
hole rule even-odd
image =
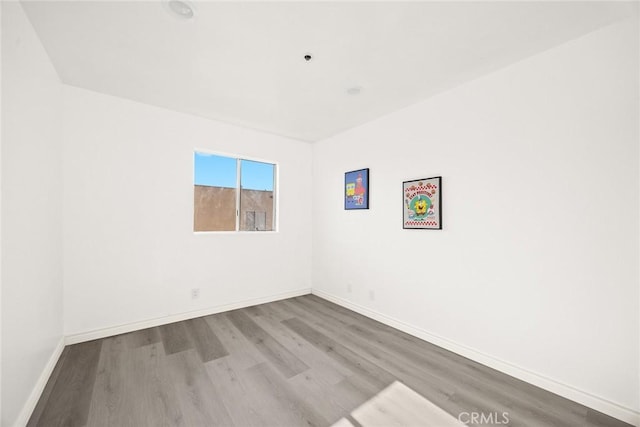
[[[8,426],[62,338],[62,85],[19,3],[1,7],[1,424]]]

